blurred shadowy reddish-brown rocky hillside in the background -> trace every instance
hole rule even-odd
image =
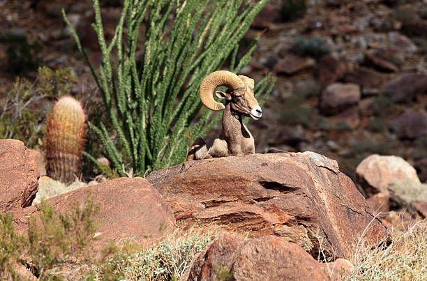
[[[101,3],[108,38],[120,1]],[[60,15],[66,8],[98,64],[90,1],[0,1],[0,6],[0,59],[8,61],[0,66],[0,97],[15,75],[33,76],[35,64],[71,66],[78,77],[73,93],[89,111],[96,107],[100,98],[93,98],[89,69]],[[249,123],[257,152],[316,151],[338,160],[352,179],[370,153],[399,155],[426,181],[426,1],[271,0],[246,38],[257,33],[262,38],[242,73],[255,81],[269,71],[278,77],[262,120]]]

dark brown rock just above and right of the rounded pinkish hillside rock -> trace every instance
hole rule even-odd
[[[358,84],[364,95],[379,93],[387,77],[371,68],[359,67],[345,73],[345,82]]]

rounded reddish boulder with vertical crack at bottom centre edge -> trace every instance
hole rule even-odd
[[[195,257],[180,280],[330,280],[299,245],[264,236],[244,243],[223,236]]]

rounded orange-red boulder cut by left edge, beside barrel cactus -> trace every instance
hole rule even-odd
[[[17,139],[0,139],[0,212],[31,206],[38,191],[38,167]]]

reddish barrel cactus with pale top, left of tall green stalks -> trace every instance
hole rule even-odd
[[[84,144],[85,115],[80,102],[60,98],[46,122],[47,174],[63,183],[78,175]]]

